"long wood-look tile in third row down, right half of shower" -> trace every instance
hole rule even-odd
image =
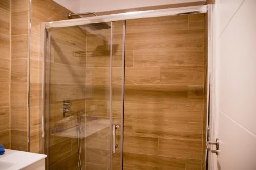
[[[134,50],[134,66],[203,66],[203,47]],[[126,62],[126,60],[125,60]]]

